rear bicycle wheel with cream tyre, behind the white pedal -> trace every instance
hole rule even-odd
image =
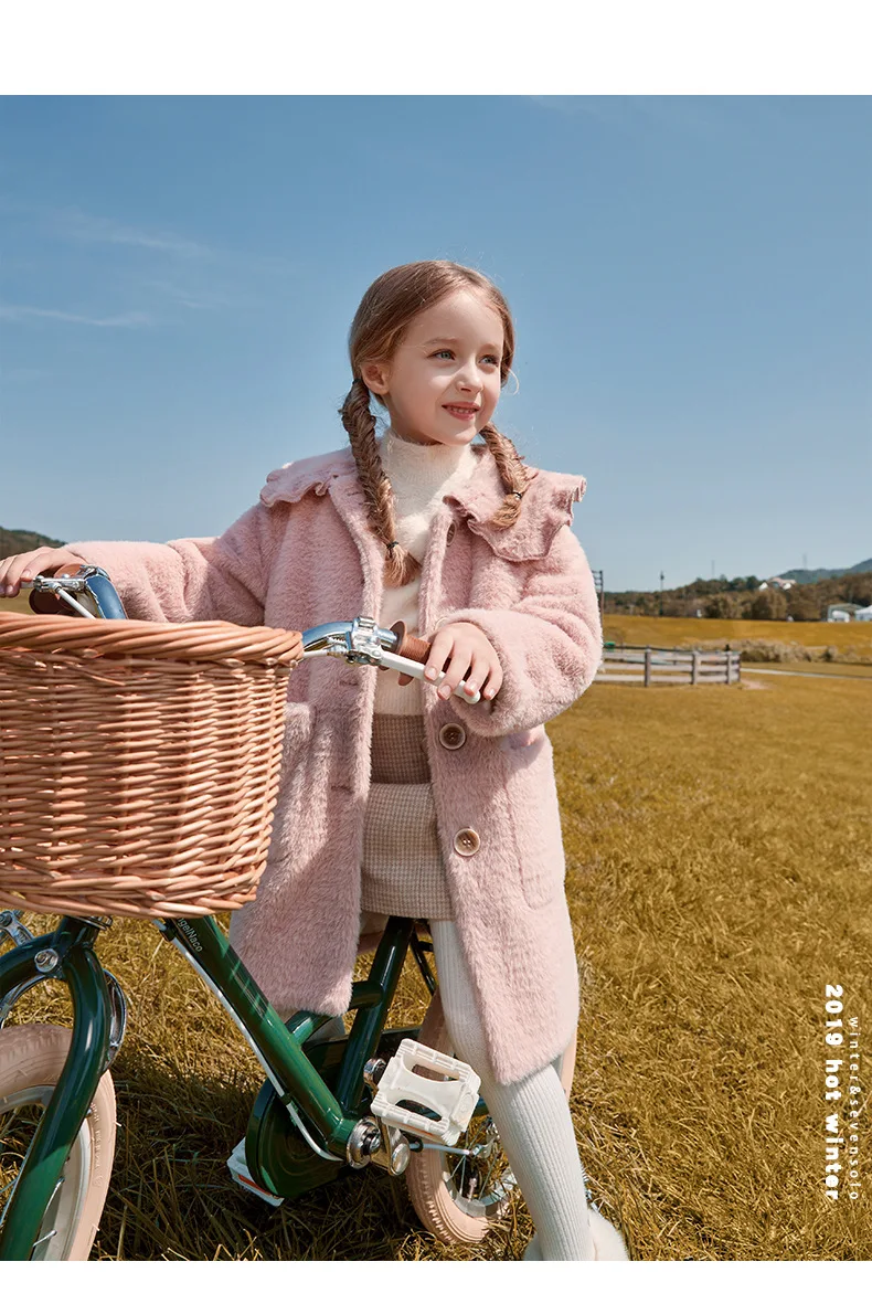
[[[446,1055],[452,1054],[438,990],[418,1041]],[[560,1074],[567,1098],[574,1069],[575,1038],[563,1056]],[[507,1215],[517,1184],[487,1114],[472,1116],[456,1148],[476,1153],[464,1157],[443,1150],[418,1150],[409,1161],[405,1180],[414,1211],[426,1230],[446,1245],[471,1245],[482,1241]]]

